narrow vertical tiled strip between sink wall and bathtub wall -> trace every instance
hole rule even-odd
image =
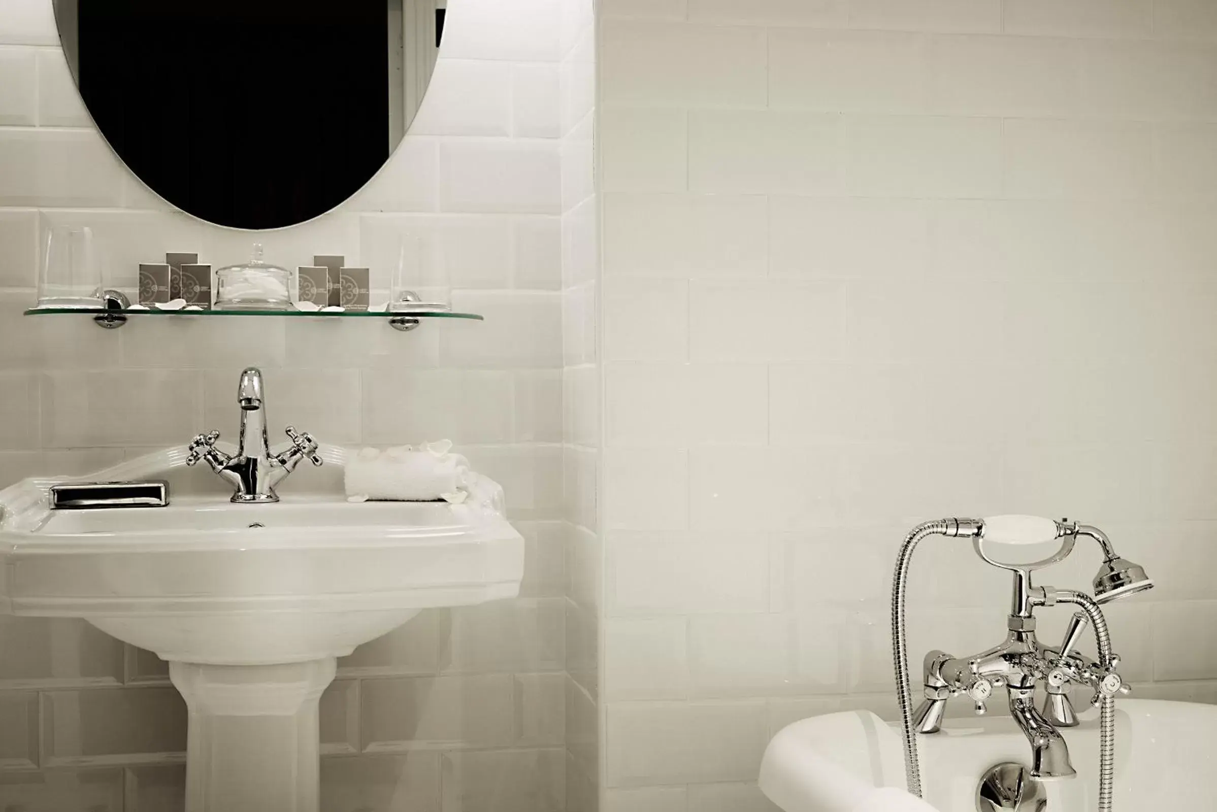
[[[562,15],[562,540],[566,551],[565,701],[535,706],[528,686],[517,686],[517,718],[531,720],[528,740],[543,744],[561,722],[566,743],[561,765],[568,812],[596,812],[601,793],[600,619],[602,545],[599,519],[600,429],[600,241],[596,162],[596,17],[593,0],[566,0]],[[622,134],[623,137],[630,137]],[[638,154],[638,150],[626,150]],[[548,704],[548,699],[546,699]],[[548,762],[538,762],[546,768]],[[521,812],[533,812],[521,808]]]

